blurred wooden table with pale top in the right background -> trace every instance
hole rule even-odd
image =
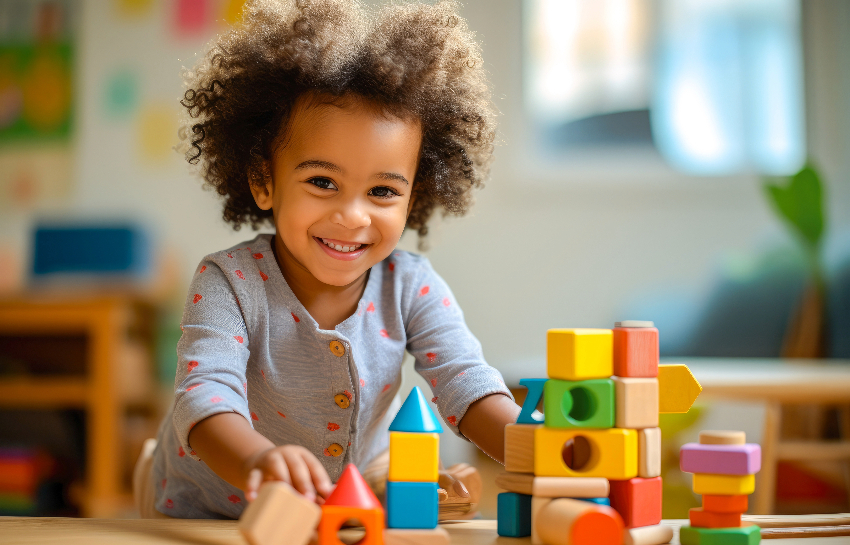
[[[762,466],[758,473],[755,514],[771,514],[780,460],[844,461],[850,464],[850,360],[676,359],[686,363],[703,387],[700,399],[763,401]],[[670,362],[665,362],[670,363]],[[787,441],[780,437],[782,407],[844,406],[838,441]],[[850,468],[850,466],[848,466]],[[850,483],[848,494],[850,494]]]

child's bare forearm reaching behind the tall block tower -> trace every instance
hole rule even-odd
[[[505,426],[516,423],[520,406],[502,394],[490,394],[469,406],[458,429],[475,446],[505,463]]]

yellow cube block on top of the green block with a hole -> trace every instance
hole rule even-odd
[[[614,335],[610,329],[550,329],[546,332],[549,378],[608,378],[614,372]]]

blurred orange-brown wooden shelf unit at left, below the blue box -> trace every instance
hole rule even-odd
[[[126,452],[124,418],[132,406],[149,410],[150,419],[159,416],[153,407],[153,322],[153,307],[130,296],[0,301],[0,339],[7,343],[3,355],[14,352],[17,343],[17,359],[23,362],[14,372],[0,374],[0,409],[84,411],[85,485],[79,498],[84,516],[114,516],[132,505],[126,484],[132,453]],[[63,358],[61,353],[62,339],[71,337],[84,339],[84,362],[76,367],[67,363],[70,354]],[[60,352],[50,356],[55,361],[27,367],[26,354],[20,353],[41,353],[33,347],[45,343],[59,344]],[[20,348],[24,345],[29,348]]]

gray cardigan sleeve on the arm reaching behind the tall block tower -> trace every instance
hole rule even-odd
[[[420,259],[419,273],[405,290],[407,350],[431,386],[443,420],[463,437],[458,424],[472,403],[490,394],[513,396],[502,374],[485,361],[449,286],[427,259]]]

